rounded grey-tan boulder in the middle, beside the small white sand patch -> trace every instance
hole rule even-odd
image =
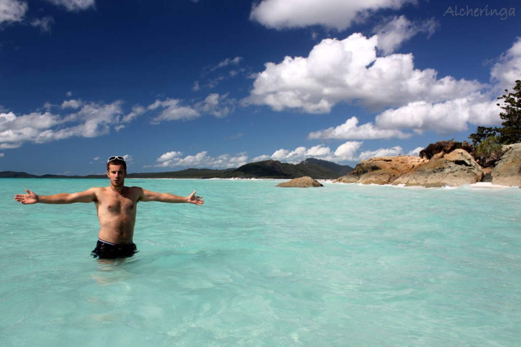
[[[396,178],[392,184],[406,186],[444,187],[481,182],[485,171],[463,149],[440,152],[428,162]]]

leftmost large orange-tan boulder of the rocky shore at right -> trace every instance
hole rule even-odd
[[[427,162],[415,156],[377,157],[363,160],[349,174],[337,179],[341,183],[390,184],[403,173]]]

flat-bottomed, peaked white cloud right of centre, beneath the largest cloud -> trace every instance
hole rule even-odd
[[[330,127],[326,130],[309,134],[310,139],[376,139],[376,138],[408,138],[411,134],[405,134],[396,129],[379,129],[373,123],[358,126],[358,119],[351,117],[344,124]]]

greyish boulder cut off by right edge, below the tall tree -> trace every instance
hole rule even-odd
[[[521,186],[521,144],[508,145],[491,172],[492,184]]]

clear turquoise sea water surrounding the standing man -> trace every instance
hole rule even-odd
[[[108,180],[0,179],[2,346],[517,346],[521,189],[127,180],[133,258],[90,258],[94,204],[13,196]]]

